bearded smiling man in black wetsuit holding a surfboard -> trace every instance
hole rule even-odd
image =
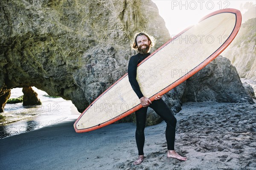
[[[144,160],[143,147],[145,142],[144,129],[146,122],[146,113],[148,107],[154,109],[154,111],[166,121],[166,141],[167,141],[167,157],[177,158],[180,161],[186,161],[186,157],[182,157],[177,154],[174,150],[175,141],[175,128],[176,128],[176,118],[172,114],[172,111],[167,107],[162,99],[162,96],[155,96],[154,101],[151,102],[147,97],[145,97],[140,91],[140,86],[136,80],[137,75],[137,65],[143,61],[146,57],[150,55],[150,48],[154,46],[153,37],[149,36],[145,32],[140,32],[135,35],[135,40],[133,48],[138,50],[138,54],[131,57],[128,64],[128,77],[131,87],[140,99],[140,103],[143,108],[135,112],[136,115],[136,143],[139,151],[139,157],[134,161],[134,164],[141,164]]]

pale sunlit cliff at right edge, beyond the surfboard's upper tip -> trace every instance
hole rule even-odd
[[[230,59],[241,78],[256,81],[256,18],[241,25],[237,36],[222,55]]]

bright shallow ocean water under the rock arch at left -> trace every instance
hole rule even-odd
[[[67,118],[76,119],[80,113],[71,101],[63,98],[52,98],[46,92],[32,87],[38,93],[42,105],[24,107],[22,103],[6,104],[4,121],[0,122],[0,138],[18,135],[31,130],[46,127],[61,122]],[[11,91],[10,98],[17,98],[23,95],[22,88],[15,88]]]

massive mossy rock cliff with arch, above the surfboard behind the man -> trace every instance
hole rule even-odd
[[[136,32],[170,39],[149,0],[1,0],[0,27],[0,94],[35,86],[80,112],[127,72]]]

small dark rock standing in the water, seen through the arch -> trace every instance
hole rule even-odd
[[[41,105],[40,99],[38,99],[38,94],[32,87],[23,87],[23,106]]]

